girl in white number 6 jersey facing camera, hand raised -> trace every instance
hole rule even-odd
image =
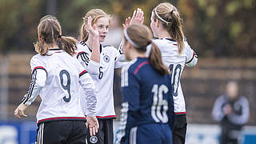
[[[142,17],[142,10],[138,9],[134,12],[134,16],[130,18],[130,23],[141,22],[138,19],[142,19]],[[96,138],[88,138],[88,142],[113,144],[113,119],[115,118],[113,98],[114,69],[121,68],[125,62],[119,61],[123,57],[114,46],[99,44],[104,42],[109,32],[110,15],[101,9],[93,9],[88,11],[83,19],[84,22],[81,27],[82,41],[78,44],[76,57],[95,81],[97,95],[96,115],[99,122]],[[95,34],[95,32],[88,33],[88,31],[94,30],[97,30],[98,34]],[[98,49],[94,49],[93,46],[97,46],[97,42]]]

